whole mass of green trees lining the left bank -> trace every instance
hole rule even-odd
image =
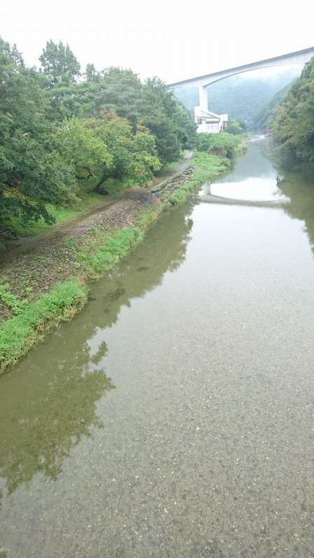
[[[0,225],[52,222],[49,204],[77,200],[107,179],[141,184],[195,140],[188,112],[158,78],[80,68],[49,41],[29,68],[0,38]]]

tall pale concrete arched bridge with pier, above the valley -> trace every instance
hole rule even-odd
[[[312,56],[314,56],[314,47],[306,48],[304,50],[297,50],[297,52],[290,52],[290,54],[283,54],[282,56],[275,56],[274,58],[267,58],[265,60],[260,60],[258,62],[253,62],[250,64],[244,64],[244,66],[236,66],[235,68],[220,70],[219,72],[214,72],[207,75],[191,77],[188,80],[170,83],[168,84],[168,87],[169,89],[174,89],[175,87],[179,87],[182,85],[198,87],[200,110],[202,112],[207,112],[207,87],[210,84],[220,82],[220,80],[225,80],[226,77],[231,77],[232,75],[251,72],[252,70],[260,70],[262,68],[273,68],[274,66],[285,65],[292,66],[294,64],[298,66],[304,66],[304,64],[308,62],[312,58]]]

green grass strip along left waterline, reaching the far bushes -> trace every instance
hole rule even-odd
[[[96,227],[80,237],[67,239],[68,259],[64,266],[68,269],[68,280],[55,285],[48,294],[39,294],[34,299],[29,287],[29,291],[21,292],[18,297],[11,291],[13,285],[1,283],[0,303],[6,306],[8,319],[3,319],[0,325],[0,372],[17,363],[45,333],[73,317],[84,306],[88,292],[86,280],[99,278],[113,269],[143,241],[147,229],[169,204],[184,202],[197,186],[216,179],[230,168],[231,159],[203,151],[195,153],[192,164],[192,178],[171,193],[165,202],[154,203],[140,211],[132,225],[111,232]],[[36,262],[40,273],[44,262],[40,257]]]

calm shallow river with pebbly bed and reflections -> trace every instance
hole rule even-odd
[[[252,142],[0,381],[1,558],[314,556],[314,180]],[[287,198],[289,204],[285,204]]]

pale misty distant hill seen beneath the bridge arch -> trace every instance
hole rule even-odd
[[[227,112],[230,120],[245,121],[253,128],[255,117],[274,95],[297,77],[297,70],[264,77],[228,77],[209,86],[209,110],[222,114]],[[198,91],[194,88],[178,87],[177,98],[190,112],[198,105]]]

